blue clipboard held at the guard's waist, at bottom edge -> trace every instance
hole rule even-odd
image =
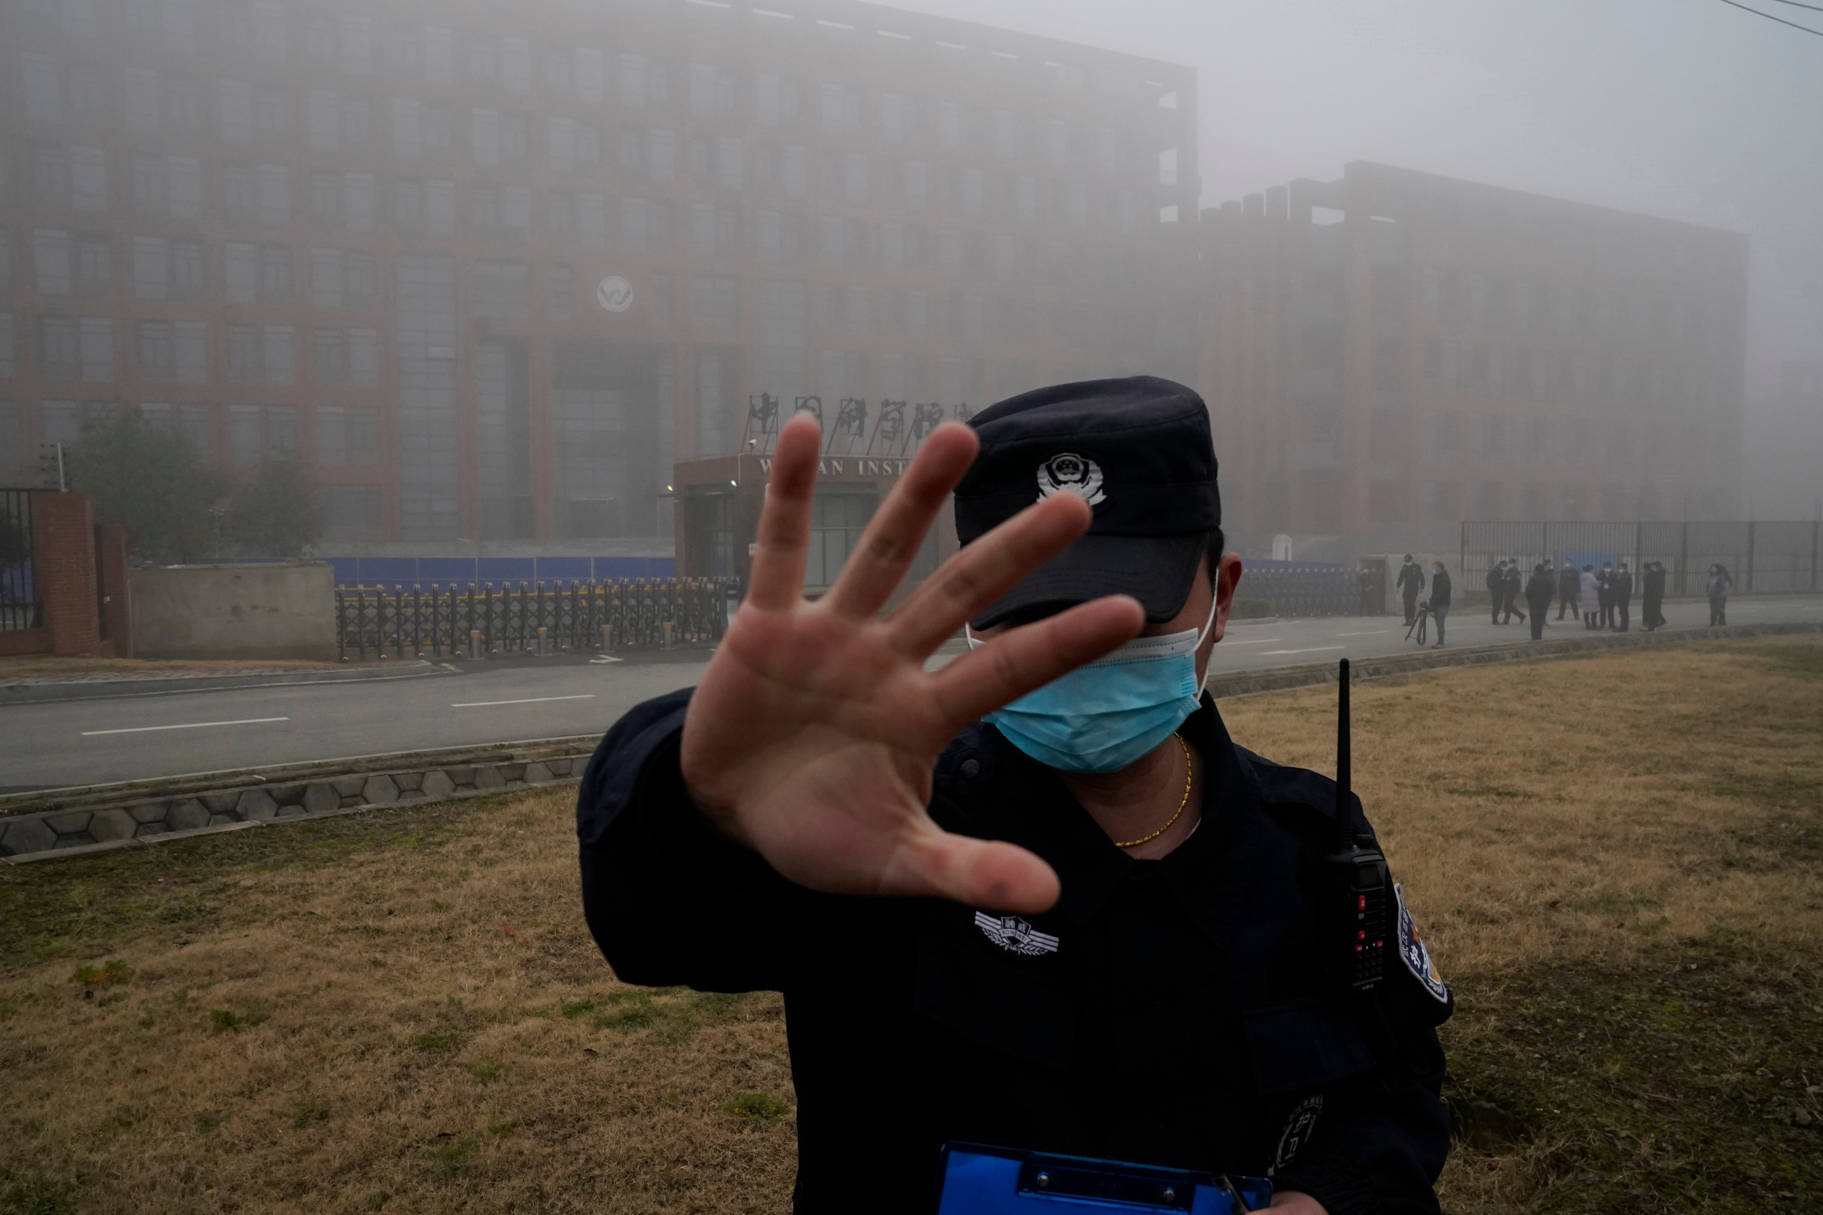
[[[983,1144],[942,1146],[937,1215],[1245,1215],[1272,1202],[1272,1182],[1059,1157]]]

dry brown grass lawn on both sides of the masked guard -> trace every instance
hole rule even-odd
[[[1241,743],[1327,769],[1331,703],[1223,712]],[[1471,1122],[1449,1210],[1575,1210],[1566,1179],[1608,1138],[1633,1210],[1677,1210],[1606,1089],[1584,1109],[1551,1087],[1586,1064],[1644,1126],[1672,1117],[1643,1100],[1659,1080],[1626,1042],[1612,1067],[1584,1058],[1546,996],[1621,1007],[1668,982],[1674,944],[1745,940],[1717,991],[1823,1020],[1787,995],[1823,1013],[1799,975],[1823,929],[1823,647],[1446,670],[1354,705],[1356,787],[1462,998],[1453,1097],[1517,1111]],[[549,791],[0,871],[0,1215],[788,1210],[778,998],[616,984],[572,838],[571,794]],[[1535,1062],[1551,1042],[1560,1060]],[[1526,1111],[1528,1086],[1560,1124]],[[753,1113],[726,1108],[744,1095]]]

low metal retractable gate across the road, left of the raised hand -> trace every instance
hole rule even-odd
[[[339,587],[335,639],[343,659],[607,654],[718,641],[738,587],[733,577]]]

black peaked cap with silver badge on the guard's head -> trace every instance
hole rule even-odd
[[[975,628],[1110,594],[1139,599],[1154,625],[1183,610],[1221,526],[1201,397],[1150,375],[1092,379],[1010,397],[970,424],[981,454],[955,486],[964,545],[1052,494],[1094,508],[1088,534],[970,621]]]

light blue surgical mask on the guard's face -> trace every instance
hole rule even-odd
[[[1196,712],[1205,672],[1196,650],[1216,619],[1161,638],[1134,638],[1107,658],[1052,679],[988,714],[1014,747],[1065,772],[1117,772]],[[986,645],[970,636],[970,648]]]

